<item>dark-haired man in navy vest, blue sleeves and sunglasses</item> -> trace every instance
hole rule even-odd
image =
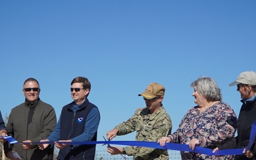
[[[100,112],[87,99],[90,88],[91,84],[87,78],[77,77],[72,80],[70,91],[73,102],[63,107],[54,131],[50,137],[41,141],[55,142],[55,146],[60,149],[58,160],[95,159],[96,144],[65,144],[65,142],[97,141]],[[39,148],[46,149],[48,145],[41,144]]]

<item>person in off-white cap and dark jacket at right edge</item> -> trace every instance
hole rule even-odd
[[[238,78],[231,82],[229,86],[237,85],[237,91],[240,92],[242,107],[238,116],[238,136],[230,142],[218,146],[213,152],[218,149],[245,148],[249,144],[250,132],[252,123],[256,120],[256,73],[246,71],[240,73]],[[245,151],[242,155],[236,155],[236,160],[256,159],[255,144],[250,150]]]

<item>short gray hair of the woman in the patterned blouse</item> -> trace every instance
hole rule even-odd
[[[206,97],[208,102],[222,101],[220,88],[213,78],[200,77],[191,82],[191,87],[197,87],[198,93]]]

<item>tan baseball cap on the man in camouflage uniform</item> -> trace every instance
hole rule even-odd
[[[164,95],[165,88],[163,85],[160,85],[157,82],[151,82],[147,87],[144,92],[139,94],[139,96],[143,96],[148,100],[153,99],[154,97],[158,95]]]

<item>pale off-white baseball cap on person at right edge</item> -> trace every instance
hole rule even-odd
[[[253,71],[245,71],[238,75],[238,78],[229,84],[229,86],[238,85],[238,84],[245,84],[245,85],[256,85],[256,73]]]

